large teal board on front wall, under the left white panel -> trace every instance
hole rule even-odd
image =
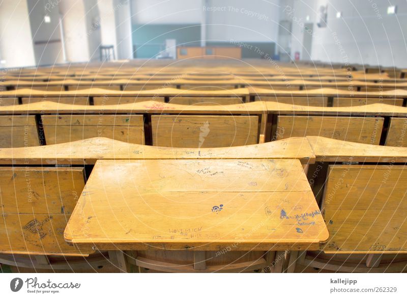
[[[132,34],[134,58],[154,58],[164,49],[166,39],[176,39],[177,45],[200,45],[200,24],[133,24]]]

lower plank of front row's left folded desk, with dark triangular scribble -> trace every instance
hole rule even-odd
[[[64,240],[69,215],[0,214],[0,253],[89,255]]]

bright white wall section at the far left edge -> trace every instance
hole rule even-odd
[[[35,65],[30,19],[25,0],[0,1],[1,67]]]

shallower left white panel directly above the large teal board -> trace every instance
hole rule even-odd
[[[201,0],[132,0],[137,24],[196,24],[201,21]]]

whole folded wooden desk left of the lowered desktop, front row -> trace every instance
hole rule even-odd
[[[0,167],[0,252],[88,255],[63,238],[84,184],[81,167]]]

